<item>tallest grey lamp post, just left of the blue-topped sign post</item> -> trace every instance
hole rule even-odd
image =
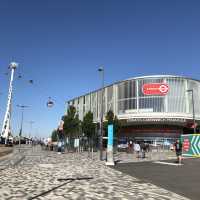
[[[101,74],[102,86],[101,86],[101,119],[100,119],[100,160],[103,160],[103,91],[104,91],[104,67],[101,66],[98,69]]]

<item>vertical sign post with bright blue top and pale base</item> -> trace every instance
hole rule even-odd
[[[107,162],[106,165],[114,166],[113,156],[113,124],[108,125]]]

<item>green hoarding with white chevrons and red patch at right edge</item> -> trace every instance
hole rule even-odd
[[[200,134],[181,135],[183,156],[200,157]]]

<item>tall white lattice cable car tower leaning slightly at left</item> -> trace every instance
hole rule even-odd
[[[14,79],[14,72],[17,66],[18,64],[15,62],[12,62],[9,65],[9,68],[11,69],[11,77],[10,77],[10,85],[9,85],[9,91],[8,91],[6,113],[4,116],[4,121],[3,121],[2,131],[1,131],[1,137],[5,139],[7,139],[9,135],[11,134],[11,103],[12,103],[13,79]]]

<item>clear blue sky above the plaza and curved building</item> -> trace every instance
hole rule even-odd
[[[126,78],[172,74],[200,79],[200,2],[185,0],[2,0],[0,3],[0,125],[15,78],[13,130],[46,137],[64,114],[64,101]],[[34,84],[28,84],[33,79]],[[55,106],[46,107],[48,97]]]

